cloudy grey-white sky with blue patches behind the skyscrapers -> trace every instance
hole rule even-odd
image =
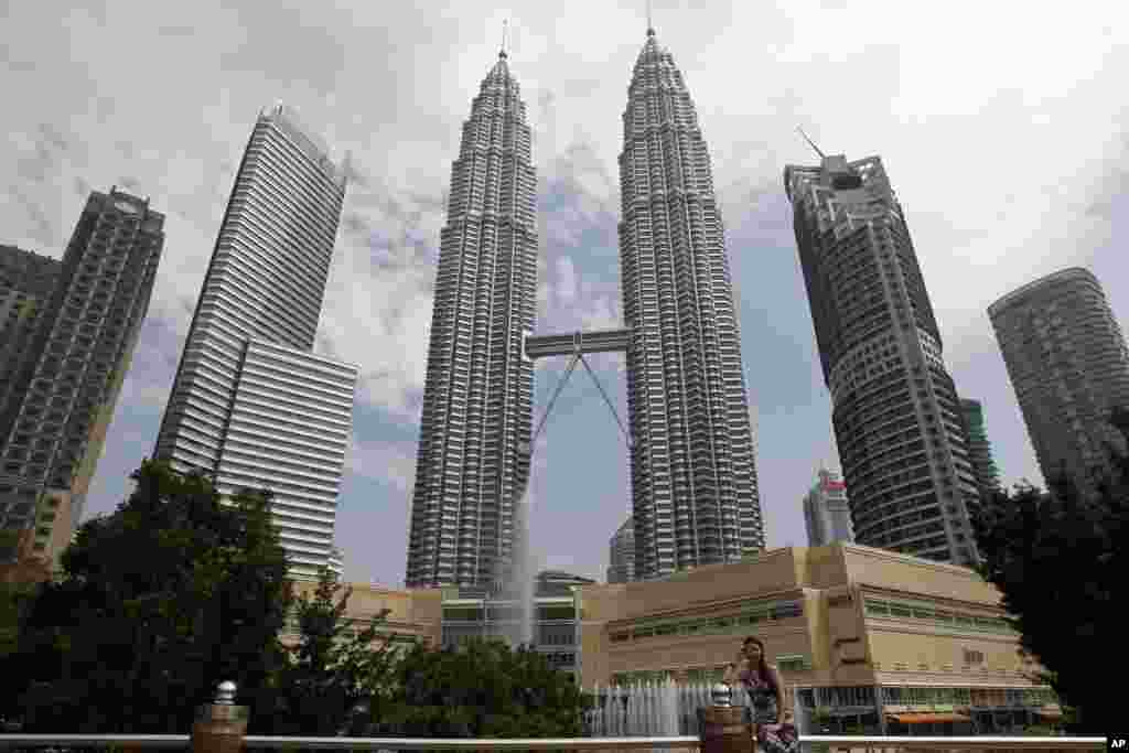
[[[815,160],[796,125],[829,154],[883,158],[957,389],[983,401],[1004,480],[1042,483],[986,308],[1080,264],[1124,322],[1129,6],[654,5],[712,155],[769,545],[806,543],[800,500],[838,467],[782,191],[785,165]],[[0,242],[60,256],[87,193],[112,185],[167,216],[87,514],[114,509],[152,449],[242,150],[285,102],[352,154],[317,344],[361,371],[336,535],[347,579],[401,585],[447,183],[502,19],[535,132],[537,329],[575,331],[620,321],[616,158],[644,6],[0,0]],[[594,361],[625,417],[621,358]],[[535,420],[564,366],[539,362]],[[627,454],[583,371],[534,458],[541,564],[603,579]]]

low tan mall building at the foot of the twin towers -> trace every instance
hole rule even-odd
[[[802,729],[1009,732],[1060,716],[1019,654],[999,592],[968,568],[855,544],[776,549],[662,580],[596,584],[543,572],[537,649],[585,688],[715,682],[746,636],[796,693]],[[456,643],[498,632],[515,605],[457,589],[353,586],[349,613]]]

